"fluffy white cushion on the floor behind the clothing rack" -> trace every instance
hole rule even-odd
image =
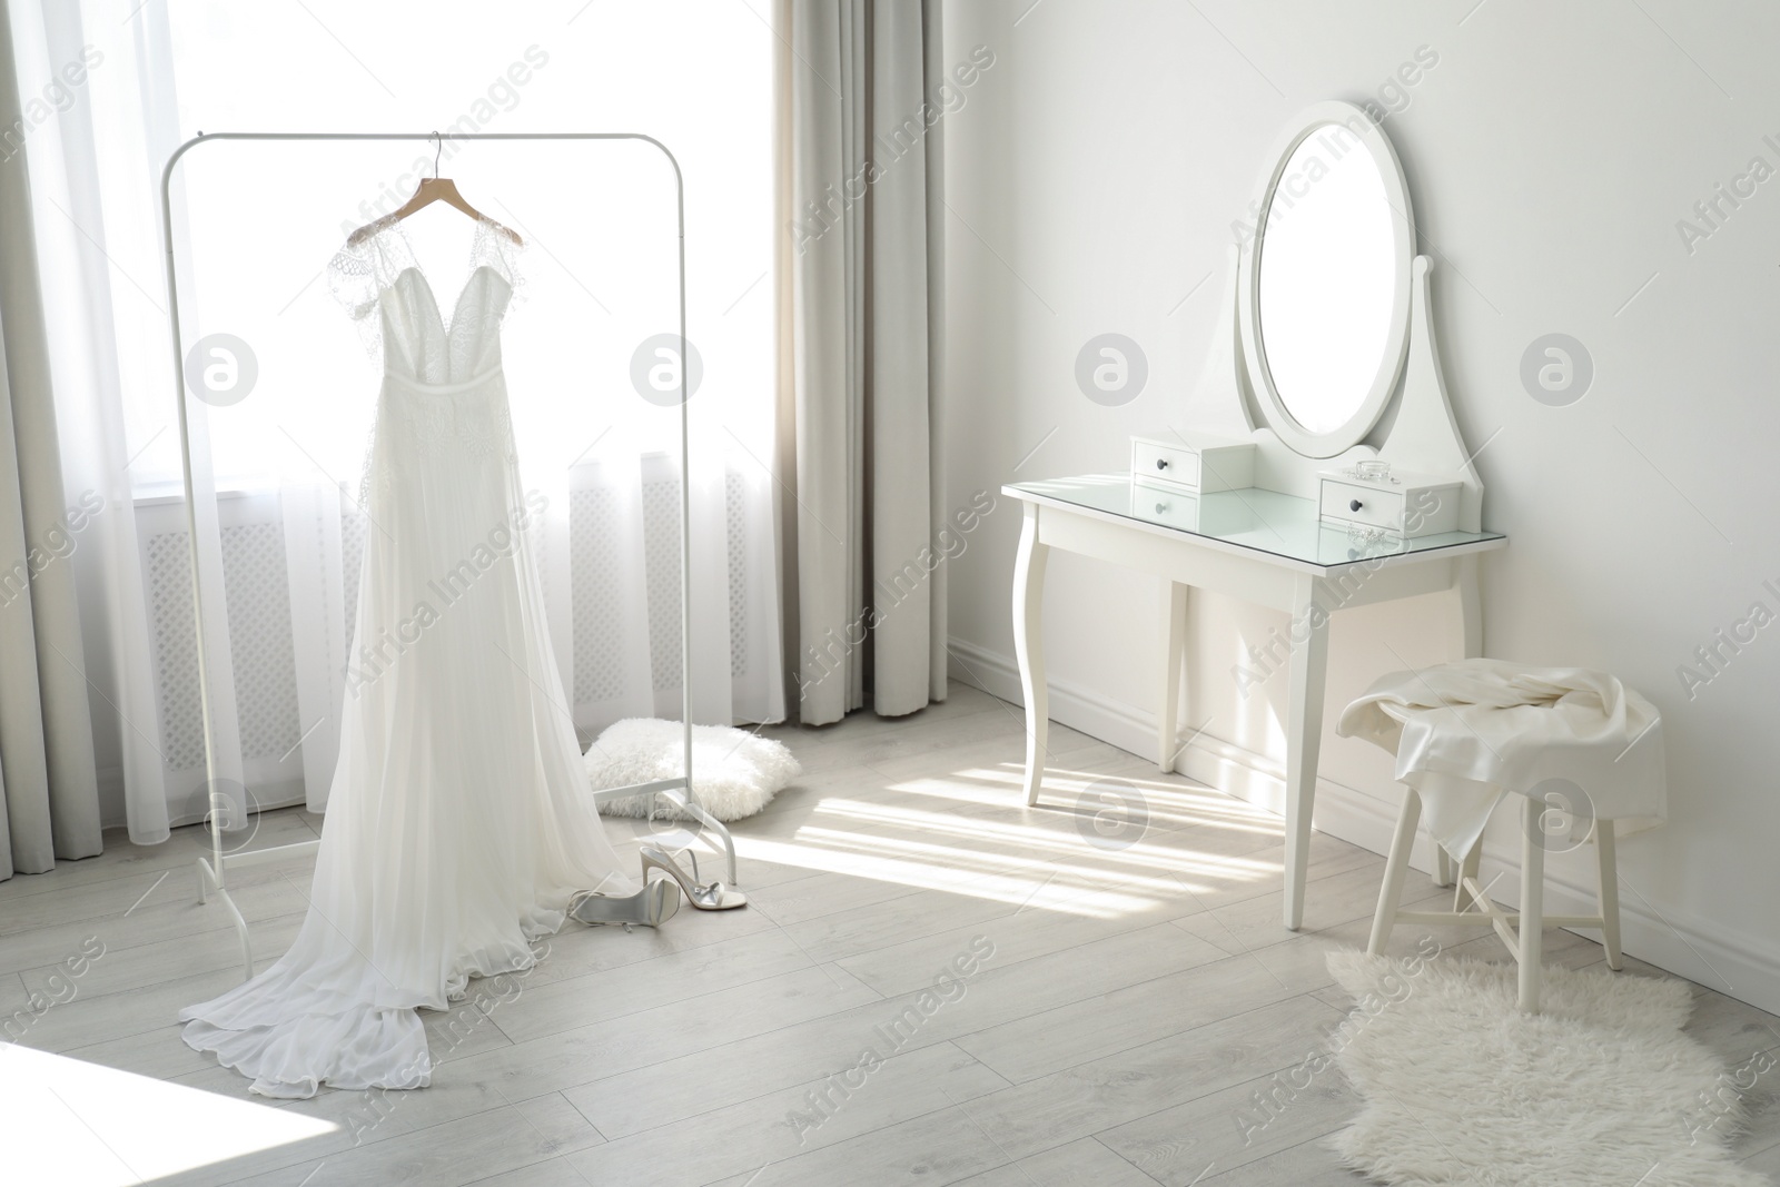
[[[682,772],[678,721],[627,717],[605,730],[587,753],[587,785],[593,790],[668,779]],[[692,726],[692,795],[719,820],[751,817],[803,772],[781,742],[755,737],[732,726]],[[666,799],[657,801],[660,817],[687,819]],[[630,795],[600,804],[611,817],[648,813],[646,795]]]

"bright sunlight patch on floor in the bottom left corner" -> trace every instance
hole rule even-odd
[[[329,1121],[16,1043],[0,1046],[9,1183],[123,1187],[338,1130]]]

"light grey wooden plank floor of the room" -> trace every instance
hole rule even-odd
[[[27,1011],[23,1046],[57,1054],[0,1050],[0,1082],[61,1084],[85,1114],[7,1134],[0,1166],[37,1141],[55,1171],[41,1182],[61,1187],[1363,1182],[1324,1146],[1358,1109],[1339,1071],[1266,1126],[1255,1098],[1342,1020],[1324,954],[1365,941],[1380,858],[1319,835],[1292,934],[1278,819],[1061,726],[1047,803],[1024,808],[1018,710],[983,692],[769,733],[806,774],[735,829],[753,906],[684,909],[659,933],[571,924],[481,1007],[429,1014],[440,1066],[415,1093],[274,1105],[180,1043],[176,1011],[240,977],[222,908],[194,904],[198,829],[157,847],[114,835],[101,858],[0,883],[0,1009]],[[265,813],[253,844],[317,826]],[[295,934],[308,877],[303,861],[237,877],[260,966]],[[1435,893],[1410,879],[1406,899]],[[1394,949],[1422,934],[1403,927]],[[1486,933],[1433,934],[1506,959]],[[71,977],[93,936],[105,954]],[[1566,933],[1547,945],[1600,959]],[[28,1013],[30,991],[68,984],[71,1000]],[[1689,1030],[1727,1062],[1780,1046],[1780,1020],[1696,998]],[[1769,1078],[1739,1151],[1780,1173]],[[132,1134],[101,1116],[135,1100],[167,1121]]]

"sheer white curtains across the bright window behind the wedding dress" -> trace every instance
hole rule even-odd
[[[676,151],[700,381],[694,715],[783,717],[764,466],[769,28],[717,0],[691,5],[694,21],[570,4],[497,20],[473,4],[12,4],[16,36],[36,39],[21,61],[55,69],[87,46],[100,57],[77,101],[32,132],[30,153],[44,272],[57,274],[57,402],[80,409],[64,454],[82,475],[110,475],[119,509],[103,546],[80,557],[84,589],[107,605],[85,634],[112,666],[109,824],[126,817],[135,840],[157,840],[206,806],[155,208],[158,164],[199,128],[639,130]],[[657,53],[669,39],[675,53]],[[644,379],[653,367],[671,386],[660,368],[675,359],[650,342],[676,322],[673,173],[635,144],[445,144],[440,157],[470,201],[530,244],[504,349],[564,698],[584,733],[678,715],[678,413],[632,381],[641,358]],[[415,142],[219,141],[187,155],[174,187],[183,343],[203,343],[189,359],[221,367],[224,388],[237,368],[233,390],[189,409],[217,772],[221,790],[246,785],[258,806],[322,806],[345,683],[400,646],[347,637],[376,530],[358,480],[377,375],[326,265],[433,162]],[[445,208],[413,221],[447,313],[470,230]]]

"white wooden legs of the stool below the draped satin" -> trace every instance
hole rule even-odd
[[[1410,849],[1415,845],[1415,828],[1422,817],[1422,799],[1415,788],[1404,787],[1403,813],[1397,815],[1397,833],[1385,860],[1385,884],[1378,892],[1378,915],[1372,916],[1372,940],[1367,952],[1383,956],[1396,924],[1461,924],[1488,925],[1502,938],[1520,963],[1520,1009],[1540,1013],[1540,954],[1543,927],[1598,927],[1607,949],[1607,968],[1618,972],[1620,957],[1620,874],[1614,865],[1613,820],[1593,820],[1595,854],[1600,870],[1600,915],[1545,915],[1545,833],[1541,829],[1547,804],[1533,795],[1522,795],[1524,822],[1520,840],[1520,911],[1502,911],[1477,884],[1477,861],[1483,838],[1458,863],[1451,911],[1399,911],[1403,877],[1410,870]],[[1438,849],[1438,845],[1436,845]],[[1440,851],[1445,856],[1445,851]],[[1445,865],[1442,861],[1442,865]]]

